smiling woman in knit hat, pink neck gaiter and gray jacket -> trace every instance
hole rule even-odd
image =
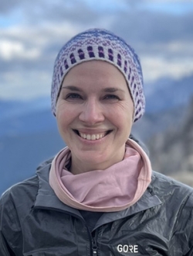
[[[63,46],[52,112],[67,147],[2,195],[2,256],[193,255],[192,189],[151,171],[128,139],[144,102],[120,37],[90,29]]]

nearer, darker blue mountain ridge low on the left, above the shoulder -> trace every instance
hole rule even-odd
[[[57,130],[0,137],[0,194],[16,182],[35,175],[42,161],[65,147]]]

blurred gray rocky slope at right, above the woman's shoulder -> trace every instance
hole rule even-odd
[[[154,169],[193,186],[193,97],[183,122],[157,133],[148,142]]]

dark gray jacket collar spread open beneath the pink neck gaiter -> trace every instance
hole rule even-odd
[[[39,190],[36,196],[36,202],[34,209],[52,209],[59,212],[69,213],[73,216],[83,219],[83,216],[80,214],[78,209],[73,209],[69,206],[66,206],[61,202],[55,192],[52,190],[49,185],[49,170],[51,167],[51,161],[46,162],[46,165],[40,167],[36,174],[39,178]],[[150,185],[141,199],[139,199],[133,206],[130,206],[127,209],[124,209],[119,212],[105,213],[100,217],[100,220],[97,222],[97,227],[100,227],[104,223],[110,223],[114,220],[120,220],[126,216],[130,216],[134,213],[139,213],[143,210],[150,209],[151,207],[158,206],[161,204],[161,199],[152,193],[153,187]]]

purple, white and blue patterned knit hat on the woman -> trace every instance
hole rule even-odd
[[[105,29],[89,29],[74,36],[59,51],[52,77],[52,112],[56,116],[56,102],[63,78],[70,68],[84,61],[107,61],[117,67],[127,81],[134,101],[134,122],[144,114],[145,99],[141,64],[134,49],[122,38]]]

